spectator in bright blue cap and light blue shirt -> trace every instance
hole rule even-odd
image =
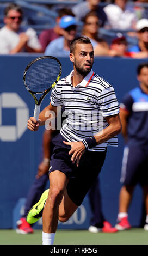
[[[69,57],[70,42],[76,37],[77,21],[75,17],[66,15],[60,19],[61,35],[48,44],[45,55]]]

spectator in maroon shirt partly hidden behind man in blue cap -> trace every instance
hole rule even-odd
[[[75,16],[75,14],[72,13],[71,9],[68,8],[62,8],[58,11],[58,16],[56,19],[56,25],[54,28],[45,29],[42,31],[39,35],[40,44],[42,46],[42,51],[45,52],[45,49],[47,45],[53,41],[54,39],[57,39],[59,36],[61,36],[61,29],[59,27],[59,21],[61,17],[65,15]]]

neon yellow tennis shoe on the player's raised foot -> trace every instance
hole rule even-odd
[[[38,203],[33,205],[33,207],[28,211],[26,220],[29,224],[35,223],[42,217],[42,212],[43,212],[44,205],[45,205],[45,202],[48,197],[48,192],[49,192],[49,190],[45,190],[44,193],[42,193]]]

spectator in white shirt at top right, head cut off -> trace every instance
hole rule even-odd
[[[127,5],[127,0],[113,0],[113,3],[104,7],[107,15],[109,29],[135,29],[138,20],[132,7]]]

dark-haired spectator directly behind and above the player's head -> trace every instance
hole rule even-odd
[[[98,29],[100,28],[100,20],[94,11],[90,11],[84,19],[84,25],[82,29],[82,35],[88,36],[90,38],[91,44],[97,48],[97,56],[103,55],[106,49],[109,49],[107,42],[99,36]]]

